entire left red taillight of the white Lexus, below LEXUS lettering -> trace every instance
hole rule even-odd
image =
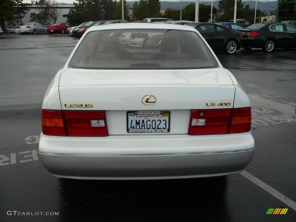
[[[52,120],[51,123],[59,125],[50,128],[51,131],[44,128],[44,123],[48,121],[44,113],[47,112],[55,113],[52,114],[55,120]],[[60,131],[55,132],[55,130],[58,130],[56,127],[63,127],[64,134]],[[104,111],[42,110],[42,132],[46,135],[55,136],[108,136]]]

